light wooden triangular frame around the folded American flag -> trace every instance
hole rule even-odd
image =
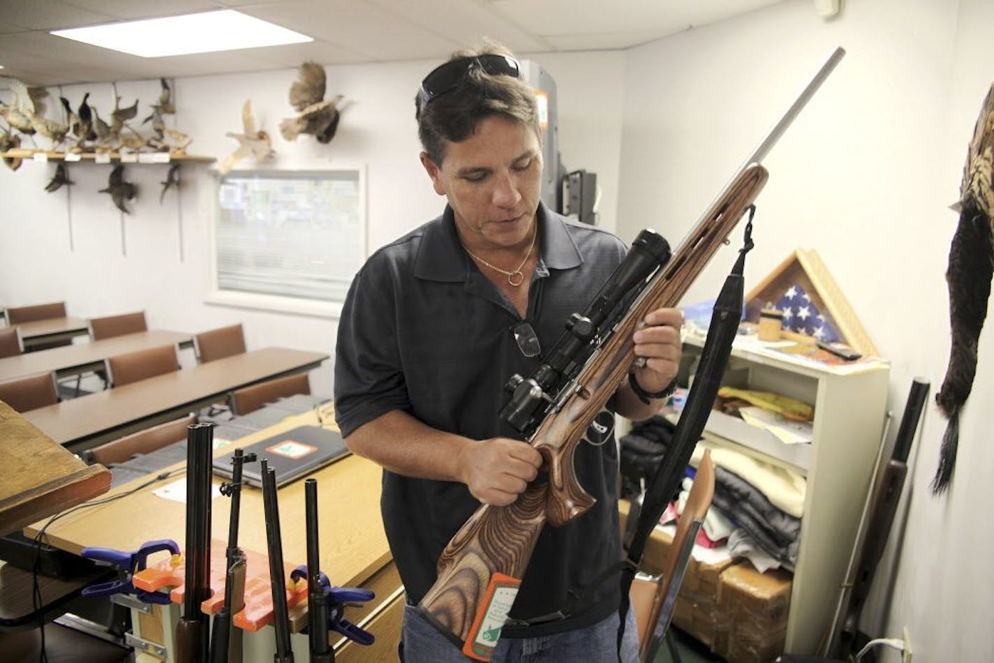
[[[814,249],[796,249],[745,295],[745,319],[758,322],[759,311],[775,305],[793,286],[800,286],[815,308],[827,313],[843,342],[864,356],[879,356],[877,346]]]

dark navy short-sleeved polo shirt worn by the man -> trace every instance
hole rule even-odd
[[[549,351],[570,315],[593,298],[627,248],[613,235],[539,206],[541,252],[527,320]],[[525,357],[512,328],[513,304],[484,276],[459,243],[452,210],[376,251],[349,288],[338,327],[335,416],[348,436],[382,414],[400,410],[472,439],[518,437],[498,413],[504,384],[530,376],[539,358]],[[390,440],[404,444],[403,439]],[[511,616],[526,619],[563,606],[577,590],[621,558],[613,438],[580,442],[580,485],[596,504],[563,527],[539,536]],[[409,600],[420,601],[436,579],[438,557],[479,502],[458,482],[414,479],[384,470],[384,526]],[[617,609],[618,581],[604,583],[592,609],[570,621],[503,637],[532,637],[580,628]]]

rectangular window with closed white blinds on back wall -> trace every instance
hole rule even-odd
[[[213,298],[318,312],[321,304],[340,304],[366,259],[364,185],[359,169],[223,177]]]

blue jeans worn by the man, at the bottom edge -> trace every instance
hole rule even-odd
[[[595,624],[564,633],[535,638],[501,638],[492,663],[638,663],[638,632],[635,616],[628,609],[621,657],[617,653],[617,612]],[[403,663],[465,663],[455,645],[424,620],[413,605],[404,606],[404,626],[400,646]]]

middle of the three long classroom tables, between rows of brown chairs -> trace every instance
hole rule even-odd
[[[0,359],[0,381],[49,372],[58,378],[80,375],[101,370],[109,357],[169,344],[193,347],[193,335],[154,329],[5,357]]]

